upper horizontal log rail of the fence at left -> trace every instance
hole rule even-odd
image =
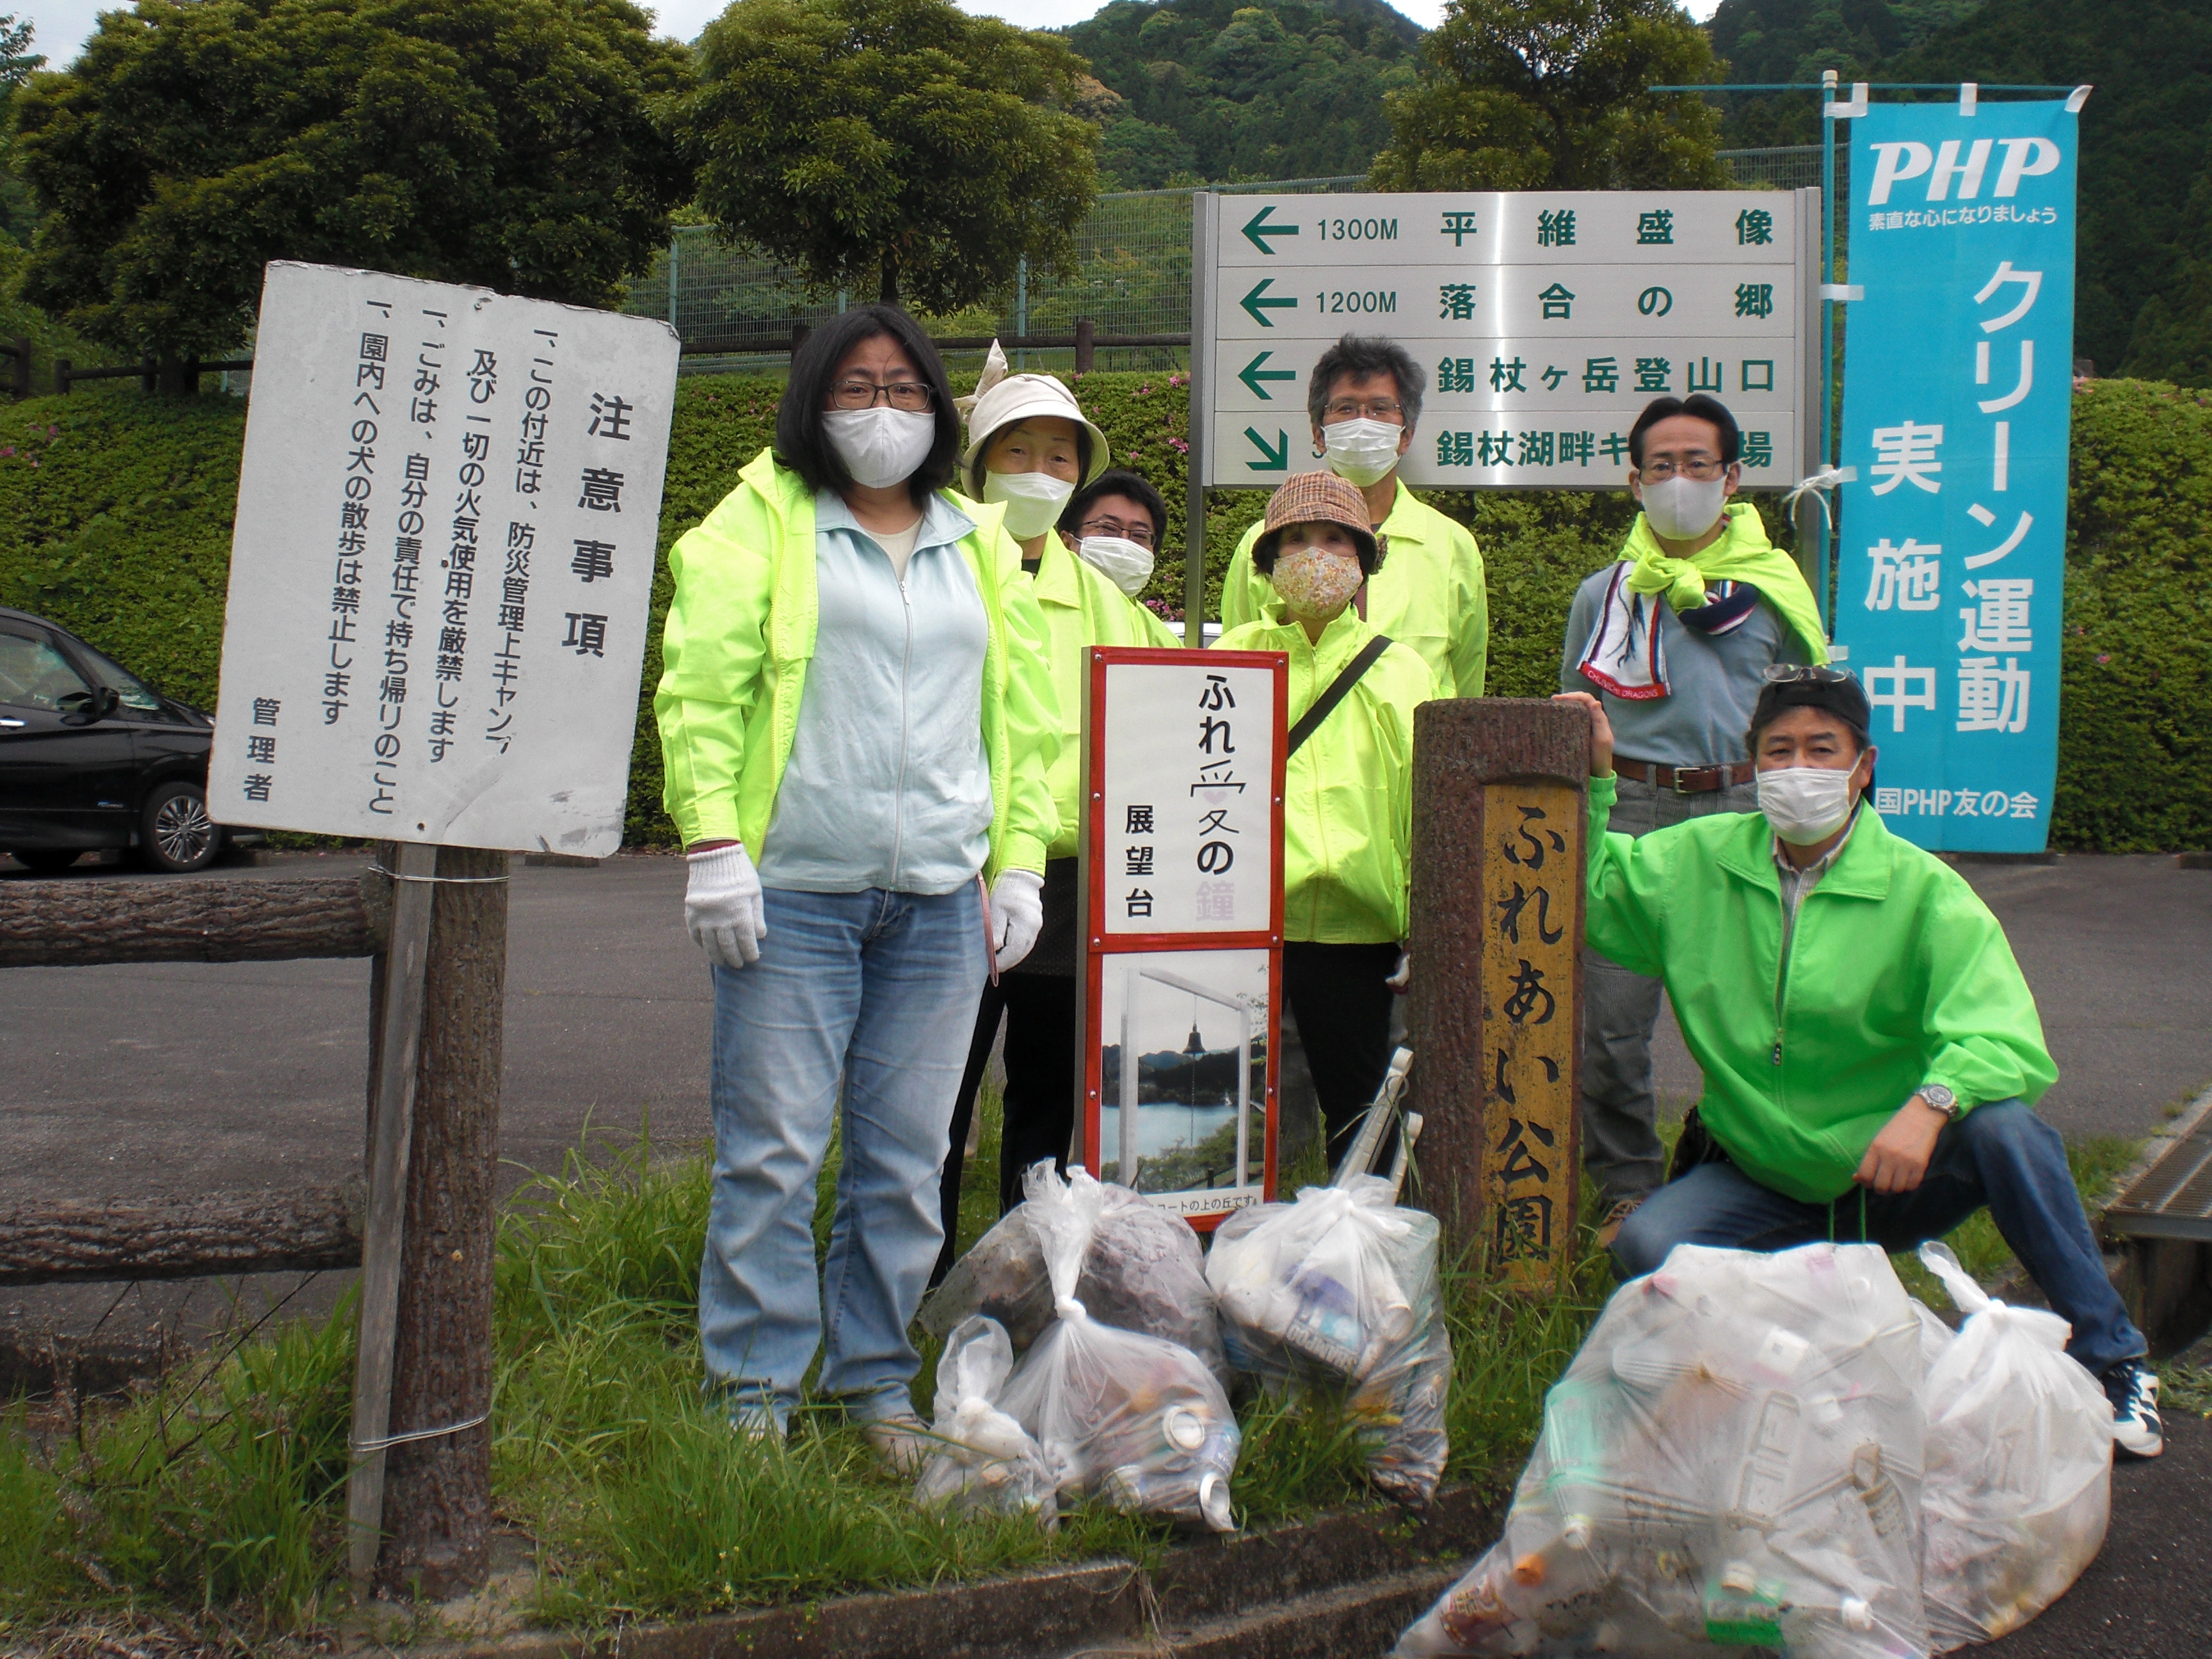
[[[389,900],[369,883],[11,880],[0,885],[0,967],[374,956]]]

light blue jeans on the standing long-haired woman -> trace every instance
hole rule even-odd
[[[818,1391],[874,1422],[911,1409],[907,1325],[942,1225],[938,1170],[987,973],[975,887],[765,891],[761,960],[714,969],[714,1194],[699,1270],[708,1387],[783,1418]],[[821,1281],[814,1181],[841,1104]],[[823,1310],[827,1307],[827,1329]]]

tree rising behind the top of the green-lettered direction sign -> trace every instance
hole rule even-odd
[[[1721,66],[1674,0],[1451,0],[1389,100],[1378,190],[1725,188]]]

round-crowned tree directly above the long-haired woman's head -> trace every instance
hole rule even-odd
[[[681,111],[699,206],[814,290],[956,312],[1073,274],[1097,126],[1066,42],[951,0],[737,0]]]

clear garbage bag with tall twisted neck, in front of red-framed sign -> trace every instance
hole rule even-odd
[[[1029,1172],[1024,1219],[1044,1252],[1053,1323],[1000,1394],[1000,1409],[1044,1449],[1062,1504],[1117,1509],[1234,1531],[1230,1475],[1243,1436],[1208,1365],[1179,1343],[1095,1318],[1075,1296],[1106,1190],[1051,1164]]]

